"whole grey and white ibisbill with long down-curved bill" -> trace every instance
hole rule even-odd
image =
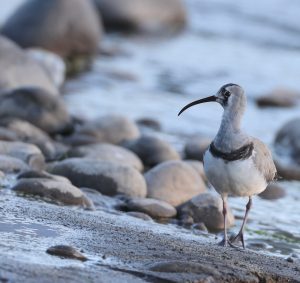
[[[193,101],[183,107],[178,116],[188,108],[206,102],[217,102],[223,109],[219,131],[204,154],[204,171],[223,200],[223,246],[241,242],[245,248],[244,229],[252,206],[252,196],[263,192],[276,176],[276,168],[268,147],[259,139],[247,135],[241,129],[247,99],[237,84],[223,85],[216,95]],[[226,231],[227,197],[248,197],[241,229],[229,241]]]

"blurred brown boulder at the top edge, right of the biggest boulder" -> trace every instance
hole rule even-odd
[[[181,0],[95,0],[107,29],[177,31],[186,22]]]

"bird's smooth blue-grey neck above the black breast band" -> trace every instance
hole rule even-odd
[[[218,134],[214,139],[214,144],[219,150],[231,152],[249,142],[249,137],[241,130],[242,116],[241,112],[224,111]]]

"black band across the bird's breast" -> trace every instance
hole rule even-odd
[[[252,155],[253,143],[246,144],[237,150],[227,153],[218,150],[212,142],[209,146],[209,151],[214,157],[222,158],[226,161],[244,160]]]

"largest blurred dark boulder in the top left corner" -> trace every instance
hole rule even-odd
[[[24,48],[72,57],[96,52],[101,24],[90,0],[29,0],[4,23],[2,34]]]

